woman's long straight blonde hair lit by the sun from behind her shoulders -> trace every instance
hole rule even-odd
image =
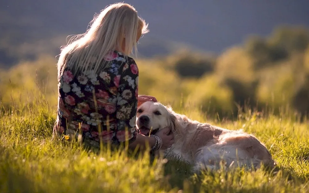
[[[91,27],[84,34],[72,37],[69,43],[61,48],[57,63],[58,80],[65,68],[75,75],[88,69],[98,72],[108,64],[102,63],[104,57],[114,50],[121,50],[127,56],[134,48],[136,53],[138,28],[142,29],[142,34],[149,31],[145,20],[138,16],[133,6],[126,3],[107,6],[94,16],[91,23]]]

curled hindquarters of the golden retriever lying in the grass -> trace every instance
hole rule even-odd
[[[272,156],[265,145],[242,130],[219,135],[212,144],[201,147],[195,157],[196,170],[203,166],[209,169],[218,168],[220,161],[227,167],[259,168],[261,163],[274,167]]]

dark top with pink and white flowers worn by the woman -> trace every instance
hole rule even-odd
[[[92,146],[99,146],[100,138],[105,143],[130,143],[136,138],[138,67],[121,52],[110,52],[104,59],[109,65],[99,73],[88,70],[74,76],[64,69],[58,84],[54,131],[65,135],[77,132]]]

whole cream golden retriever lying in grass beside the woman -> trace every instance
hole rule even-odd
[[[190,163],[195,172],[218,169],[222,163],[228,168],[275,166],[272,155],[255,136],[242,129],[228,130],[190,120],[158,102],[149,101],[138,107],[136,125],[143,135],[170,127],[175,143],[164,150],[164,155]]]

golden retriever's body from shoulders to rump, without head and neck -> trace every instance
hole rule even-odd
[[[215,169],[220,162],[227,167],[247,166],[259,168],[260,164],[274,167],[271,154],[256,137],[243,130],[228,130],[210,124],[188,120],[185,135],[176,141],[175,153],[194,163],[194,170]]]

